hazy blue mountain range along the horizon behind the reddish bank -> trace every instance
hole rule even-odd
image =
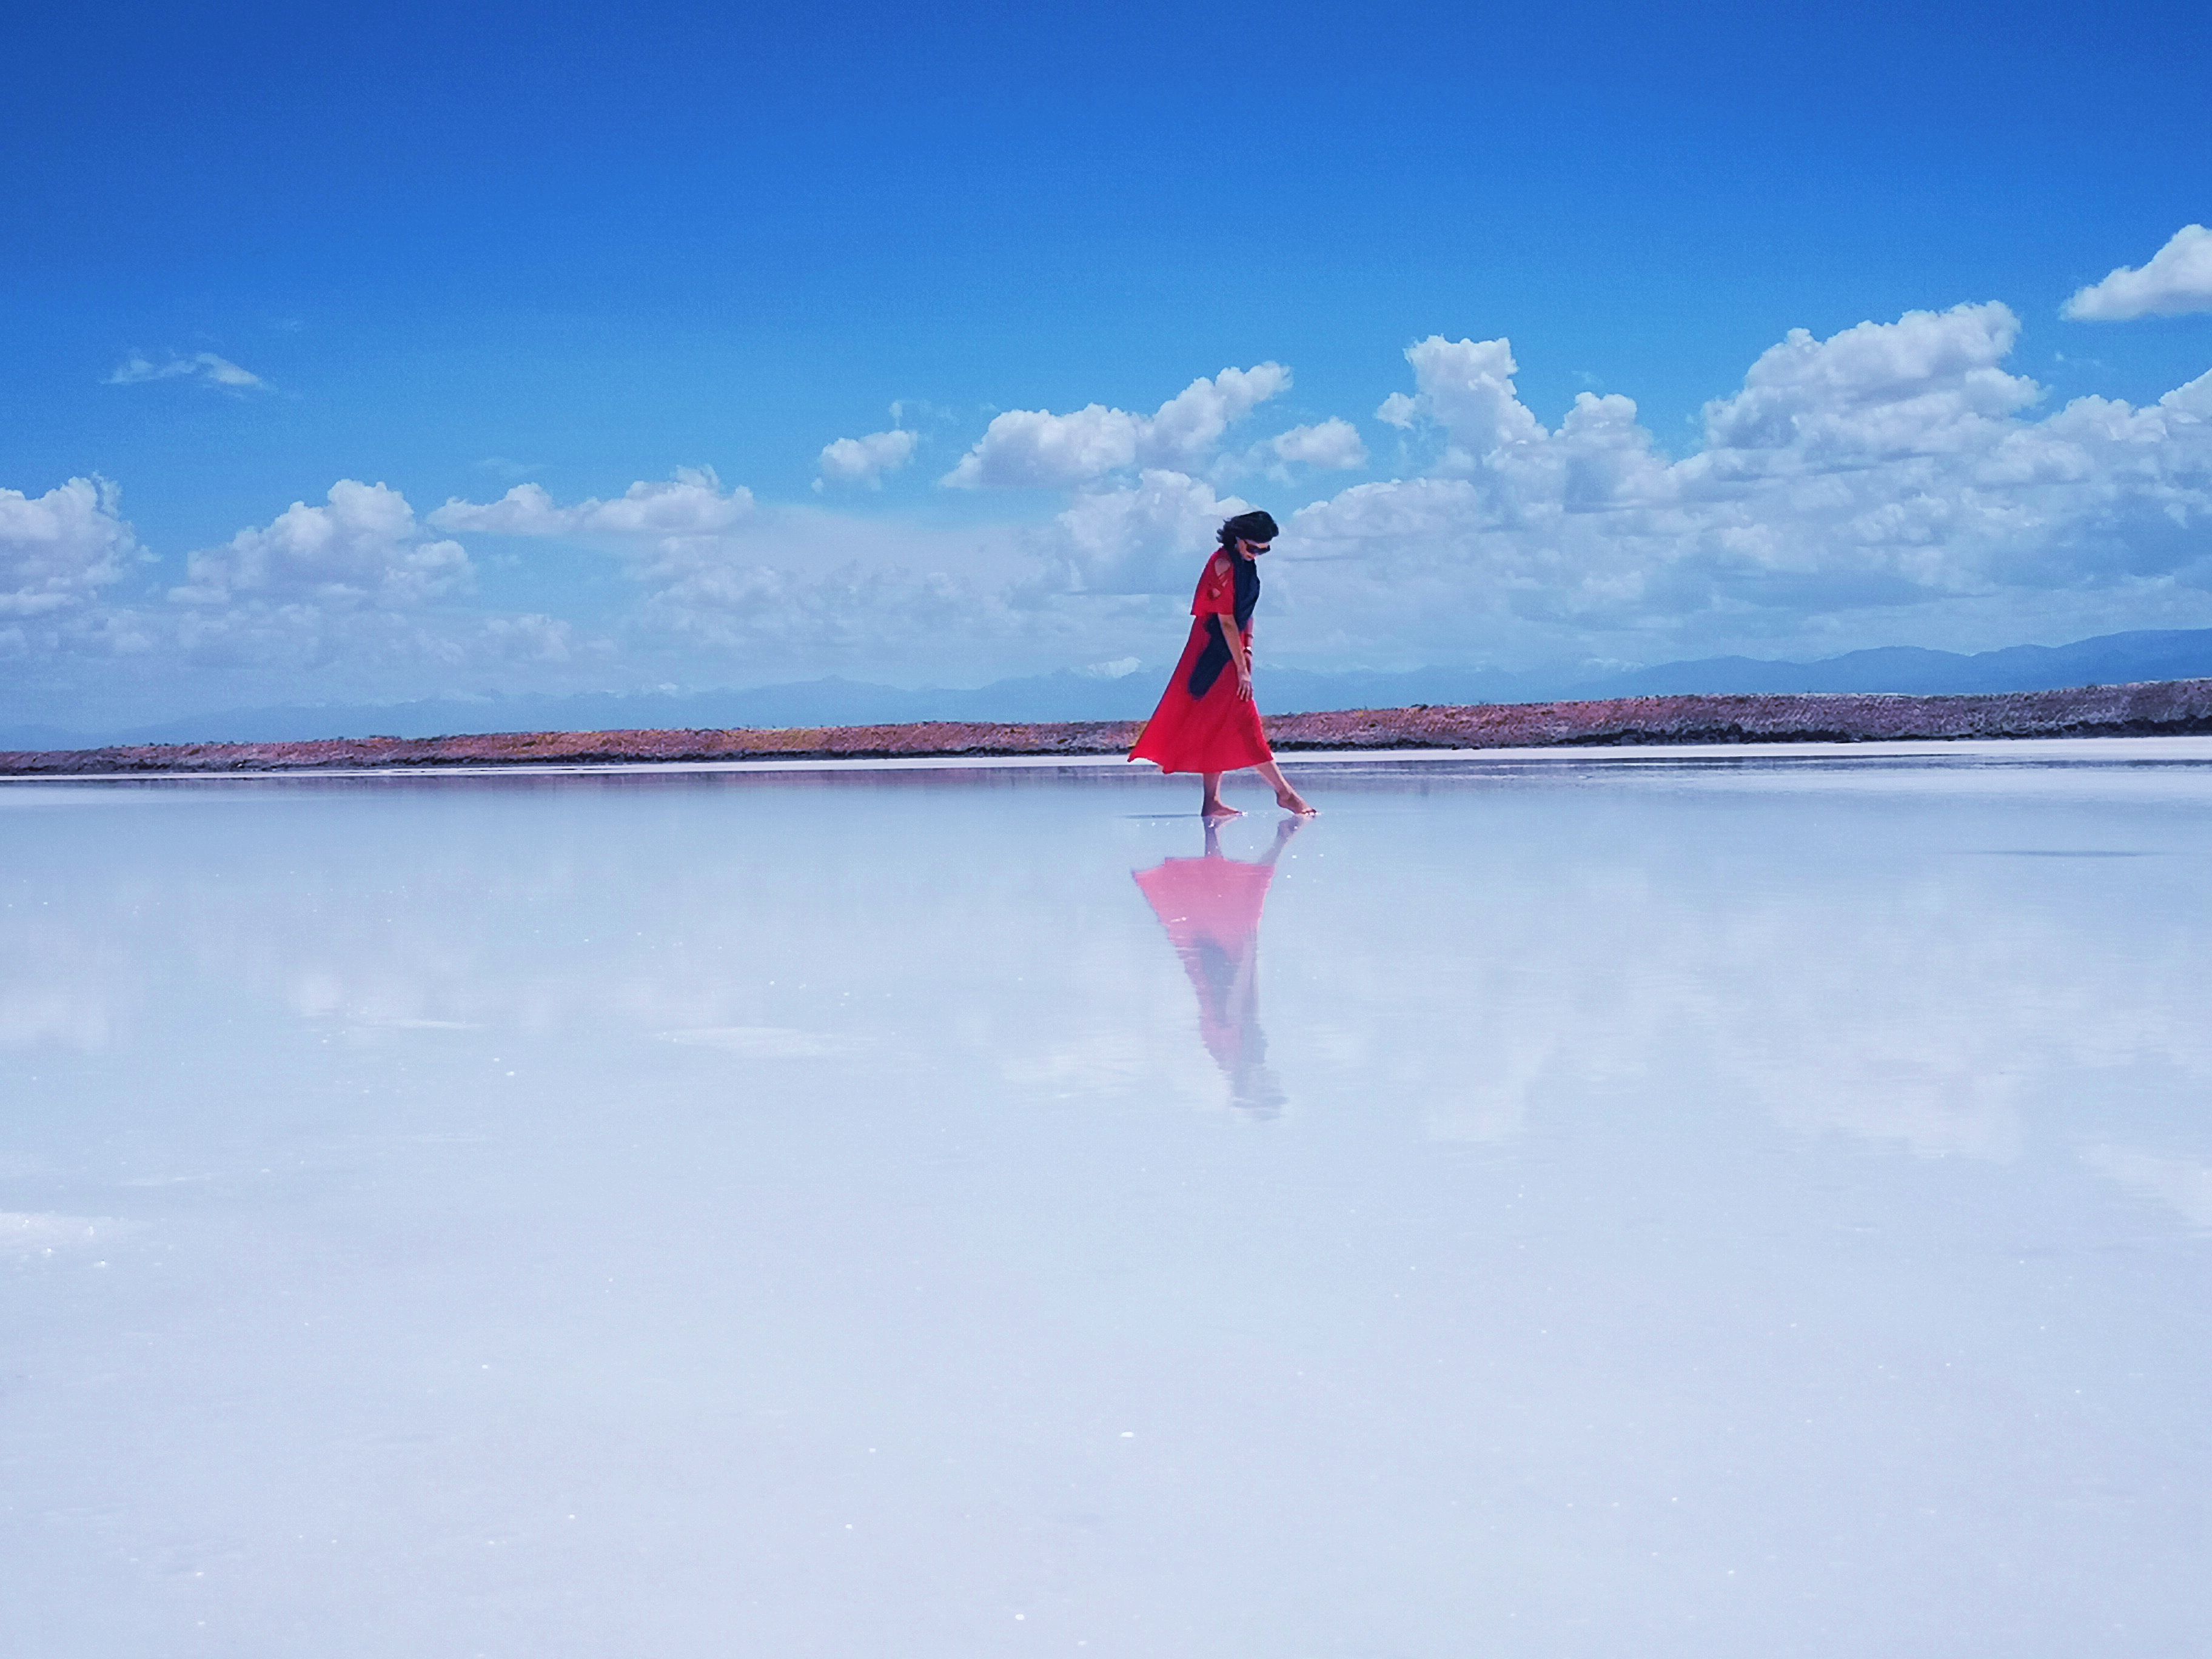
[[[1416,703],[1548,703],[1666,692],[2015,692],[2212,679],[2212,628],[2110,633],[2070,646],[2008,646],[1960,655],[1887,646],[1823,661],[1708,657],[1615,675],[1509,675],[1486,668],[1316,675],[1261,668],[1270,712],[1407,708]],[[898,690],[852,679],[703,692],[586,692],[577,697],[447,697],[414,703],[307,703],[197,714],[133,730],[0,726],[0,748],[97,743],[299,743],[319,737],[445,737],[458,732],[608,732],[737,726],[878,726],[905,721],[1141,719],[1159,670],[1121,679],[1037,675],[975,690]]]

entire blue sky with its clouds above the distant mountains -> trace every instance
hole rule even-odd
[[[2212,626],[2201,4],[13,46],[20,719],[1150,668],[1237,502],[1310,668]]]

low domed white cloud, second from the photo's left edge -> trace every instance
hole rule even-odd
[[[460,542],[429,540],[405,495],[341,478],[325,507],[292,502],[263,529],[192,553],[170,597],[195,606],[252,599],[407,608],[471,582]]]

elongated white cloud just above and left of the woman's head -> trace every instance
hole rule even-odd
[[[1152,414],[1102,403],[1073,414],[1009,409],[940,482],[953,489],[1066,489],[1133,467],[1183,471],[1267,398],[1290,389],[1290,369],[1259,363],[1192,380]]]

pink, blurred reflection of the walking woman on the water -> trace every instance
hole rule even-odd
[[[1245,863],[1221,856],[1221,832],[1208,818],[1203,858],[1130,872],[1183,958],[1199,993],[1199,1035],[1230,1079],[1230,1097],[1256,1117],[1283,1110],[1283,1086],[1267,1068],[1267,1037],[1259,1029],[1259,914],[1274,860],[1301,823],[1283,818],[1267,856]]]

